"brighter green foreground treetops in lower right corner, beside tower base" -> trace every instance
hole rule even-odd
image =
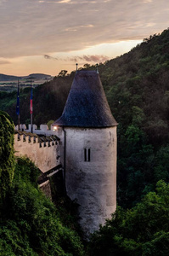
[[[95,232],[90,255],[167,255],[169,252],[169,184],[160,181],[132,210],[117,207]]]

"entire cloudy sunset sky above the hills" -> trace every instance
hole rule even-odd
[[[70,72],[168,26],[167,0],[0,0],[0,73]]]

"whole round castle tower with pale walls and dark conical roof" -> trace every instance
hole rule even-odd
[[[65,188],[89,236],[116,208],[116,121],[96,71],[77,71],[62,116]],[[65,162],[65,163],[64,163]]]

